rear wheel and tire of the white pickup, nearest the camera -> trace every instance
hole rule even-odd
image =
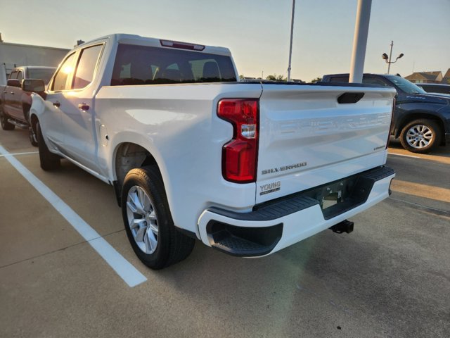
[[[176,230],[160,171],[155,165],[129,171],[122,188],[122,216],[136,256],[154,270],[184,260],[195,239]]]

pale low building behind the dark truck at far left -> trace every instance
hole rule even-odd
[[[0,65],[4,65],[6,68],[6,75],[11,73],[15,66],[20,65],[57,67],[69,50],[30,44],[13,44],[4,42],[0,35]]]

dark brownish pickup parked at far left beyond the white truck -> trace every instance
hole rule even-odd
[[[26,79],[50,81],[56,67],[23,66],[11,71],[6,86],[0,87],[0,123],[3,130],[15,127],[27,128],[30,142],[37,146],[36,134],[30,127],[31,93],[23,91],[21,84]]]

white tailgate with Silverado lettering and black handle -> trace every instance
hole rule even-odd
[[[395,94],[378,87],[263,84],[256,203],[383,165]]]

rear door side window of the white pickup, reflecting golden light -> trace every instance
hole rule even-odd
[[[103,44],[90,46],[82,50],[73,82],[73,89],[86,87],[94,79],[94,71],[100,57]]]

